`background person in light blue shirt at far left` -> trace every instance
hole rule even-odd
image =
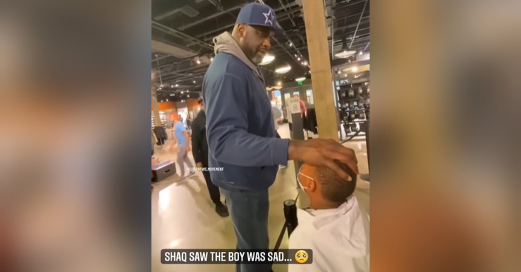
[[[190,135],[188,131],[186,131],[185,125],[181,123],[179,114],[172,112],[170,118],[174,122],[174,136],[177,140],[177,164],[179,164],[179,170],[181,171],[179,176],[186,178],[195,173],[194,171],[189,171],[188,175],[185,176],[185,164],[187,167],[194,167],[192,162],[190,162],[190,158],[188,158],[188,152],[192,150],[190,146]]]

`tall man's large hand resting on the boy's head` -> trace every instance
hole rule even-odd
[[[351,181],[352,178],[349,174],[333,162],[333,160],[339,160],[358,174],[358,160],[356,160],[354,150],[342,146],[333,139],[292,140],[288,149],[288,159],[304,162],[314,167],[328,167],[335,171],[340,178]]]

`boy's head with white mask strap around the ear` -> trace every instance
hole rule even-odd
[[[347,164],[337,160],[335,163],[344,171],[349,171]],[[308,194],[311,203],[323,208],[338,207],[352,196],[356,187],[356,181],[344,180],[327,167],[312,167],[308,164],[302,165],[297,179],[304,192]]]

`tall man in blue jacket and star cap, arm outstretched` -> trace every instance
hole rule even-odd
[[[290,140],[276,137],[270,99],[258,69],[277,31],[275,12],[249,3],[238,15],[232,33],[215,37],[215,58],[203,80],[206,137],[212,182],[226,197],[237,237],[237,249],[268,249],[268,188],[279,165],[299,160],[330,167],[349,178],[333,160],[358,172],[354,151],[333,139]],[[350,178],[349,178],[350,179]],[[238,264],[236,271],[269,272],[269,264]]]

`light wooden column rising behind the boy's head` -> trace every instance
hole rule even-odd
[[[308,40],[309,64],[313,86],[313,98],[317,112],[318,136],[338,142],[336,105],[333,97],[333,79],[329,46],[327,42],[324,2],[303,0],[304,22]]]

